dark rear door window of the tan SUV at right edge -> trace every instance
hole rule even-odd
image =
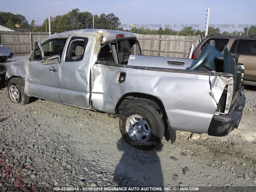
[[[256,40],[240,39],[237,44],[236,53],[256,55]]]

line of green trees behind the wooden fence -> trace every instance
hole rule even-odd
[[[80,12],[78,8],[75,8],[68,12],[67,14],[57,15],[51,19],[51,29],[52,32],[64,32],[68,30],[76,30],[76,29],[85,29],[85,28],[93,28],[93,15],[90,12]],[[20,14],[12,14],[7,12],[0,12],[0,24],[3,26],[9,26],[9,28],[13,28],[15,24],[20,25],[20,30],[29,29],[30,31],[35,32],[45,32],[48,31],[48,19],[44,20],[41,25],[35,25],[35,20],[32,20],[30,24],[26,18]],[[94,15],[94,28],[98,29],[112,29],[112,30],[120,30],[123,31],[124,28],[120,28],[120,21],[114,13],[105,14],[102,13],[100,16]],[[171,28],[159,28],[157,29],[149,29],[149,28],[132,28],[130,31],[137,34],[158,34],[158,35],[182,35],[182,36],[205,36],[204,31],[195,30],[191,26],[184,27],[180,31],[172,30]],[[246,35],[248,31],[248,36],[256,35],[256,27],[251,26],[248,28],[244,28],[244,32],[234,31],[232,34],[230,32],[224,31],[222,35]],[[221,34],[219,28],[208,28],[208,35],[211,34]]]

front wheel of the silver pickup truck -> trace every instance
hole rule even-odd
[[[22,78],[12,78],[7,85],[8,96],[14,103],[22,105],[28,104],[30,97],[24,93],[24,80]]]

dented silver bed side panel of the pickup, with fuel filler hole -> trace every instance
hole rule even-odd
[[[122,84],[117,82],[118,72],[126,72]],[[210,80],[218,102],[224,87],[232,83],[233,78],[211,76]],[[118,100],[132,92],[159,98],[174,130],[206,133],[216,110],[209,94],[208,75],[94,65],[91,96],[94,109],[114,114]]]

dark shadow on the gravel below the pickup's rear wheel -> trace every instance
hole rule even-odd
[[[161,162],[157,155],[162,147],[143,151],[128,145],[121,138],[117,148],[124,152],[114,173],[117,186],[164,186]]]

